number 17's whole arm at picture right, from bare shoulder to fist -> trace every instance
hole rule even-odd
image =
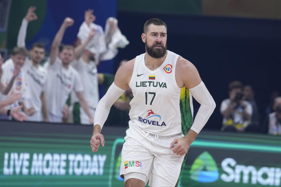
[[[177,60],[176,82],[180,88],[185,86],[189,89],[191,95],[201,104],[188,133],[183,138],[175,138],[170,145],[174,154],[183,156],[214,111],[215,101],[202,82],[195,66],[182,57]],[[176,146],[175,143],[177,143]]]

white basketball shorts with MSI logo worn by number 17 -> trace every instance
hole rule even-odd
[[[174,187],[179,178],[184,156],[176,155],[170,149],[175,138],[184,135],[158,136],[150,134],[129,121],[125,143],[122,148],[120,175],[142,173],[140,180],[151,187]],[[135,178],[135,177],[132,177]],[[128,177],[126,178],[128,179]]]

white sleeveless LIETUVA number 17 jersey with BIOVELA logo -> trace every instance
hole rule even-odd
[[[133,91],[129,116],[133,124],[151,134],[185,134],[193,122],[192,98],[188,89],[176,83],[175,67],[179,55],[168,51],[156,70],[144,63],[145,53],[136,57],[129,83]]]

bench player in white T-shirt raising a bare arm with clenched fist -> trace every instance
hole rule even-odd
[[[67,27],[72,26],[74,20],[71,18],[65,18],[59,31],[53,40],[49,62],[46,63],[48,70],[47,78],[47,111],[50,122],[61,122],[63,116],[63,110],[71,91],[76,92],[76,96],[79,99],[81,107],[85,110],[90,118],[91,124],[93,124],[93,117],[90,113],[89,106],[83,95],[83,84],[81,82],[78,72],[70,65],[74,60],[74,48],[69,45],[65,45],[61,52],[59,52],[59,46],[64,36],[64,32]]]

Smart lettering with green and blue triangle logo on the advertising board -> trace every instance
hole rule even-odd
[[[224,173],[219,177],[218,168],[213,157],[207,152],[199,155],[190,170],[190,178],[194,181],[208,183],[219,178],[224,182],[244,183],[253,185],[280,186],[281,169],[274,167],[245,166],[237,164],[233,158],[225,158],[221,162]]]

